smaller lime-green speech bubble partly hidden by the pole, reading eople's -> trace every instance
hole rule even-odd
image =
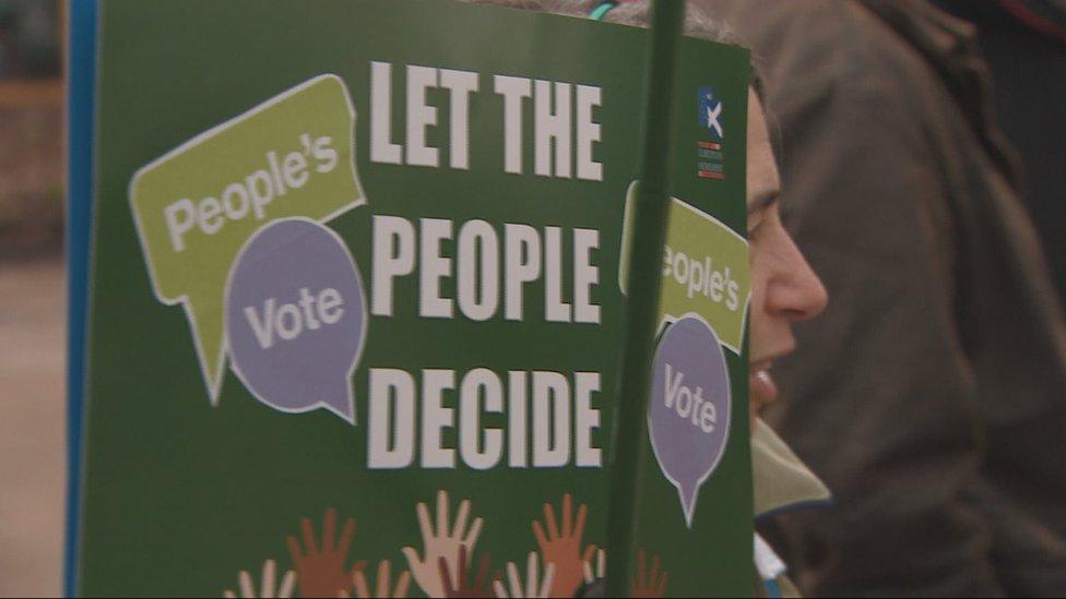
[[[637,182],[626,193],[618,286],[625,293],[632,243],[632,211]],[[663,283],[659,321],[675,321],[688,313],[702,316],[722,345],[736,355],[744,343],[750,298],[748,242],[721,220],[671,197],[663,248]]]

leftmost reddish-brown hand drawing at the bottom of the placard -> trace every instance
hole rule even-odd
[[[352,538],[355,536],[355,520],[352,518],[344,520],[341,539],[335,546],[333,541],[336,534],[336,510],[330,507],[325,511],[325,518],[322,522],[321,547],[315,540],[311,520],[303,518],[300,525],[306,552],[300,551],[296,537],[289,536],[285,539],[288,543],[288,553],[293,558],[293,564],[299,574],[300,595],[303,597],[336,597],[340,592],[346,592],[352,582],[352,577],[346,571],[346,563],[348,548],[352,547]]]

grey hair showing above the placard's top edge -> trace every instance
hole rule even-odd
[[[603,0],[464,0],[472,4],[493,4],[511,9],[528,10],[534,12],[550,12],[569,16],[589,16],[589,14],[603,4]],[[674,0],[676,1],[676,0]],[[621,2],[617,7],[607,11],[603,20],[609,23],[621,25],[633,25],[647,27],[651,22],[648,0],[632,0]],[[701,37],[711,41],[724,44],[736,44],[733,32],[724,24],[713,21],[696,7],[689,4],[685,15],[685,35]]]

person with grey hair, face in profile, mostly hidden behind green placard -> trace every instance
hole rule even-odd
[[[647,0],[467,0],[525,10],[556,12],[571,16],[593,15],[615,23],[647,26]],[[714,41],[732,41],[725,28],[689,7],[685,34]],[[773,144],[759,95],[759,85],[748,89],[747,123],[747,229],[751,296],[748,334],[749,417],[751,426],[755,513],[769,513],[812,502],[825,502],[829,492],[787,445],[762,422],[762,410],[778,397],[771,369],[791,354],[796,342],[795,322],[817,316],[826,307],[826,289],[800,252],[780,214],[781,179]],[[784,576],[784,563],[757,536],[756,565],[763,588],[758,594],[795,596]],[[602,588],[585,589],[583,597],[602,596]]]

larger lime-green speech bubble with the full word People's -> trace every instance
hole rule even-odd
[[[152,288],[161,302],[185,304],[212,404],[222,385],[223,300],[234,257],[271,220],[325,221],[366,203],[354,136],[344,82],[320,75],[133,176],[130,204]]]

